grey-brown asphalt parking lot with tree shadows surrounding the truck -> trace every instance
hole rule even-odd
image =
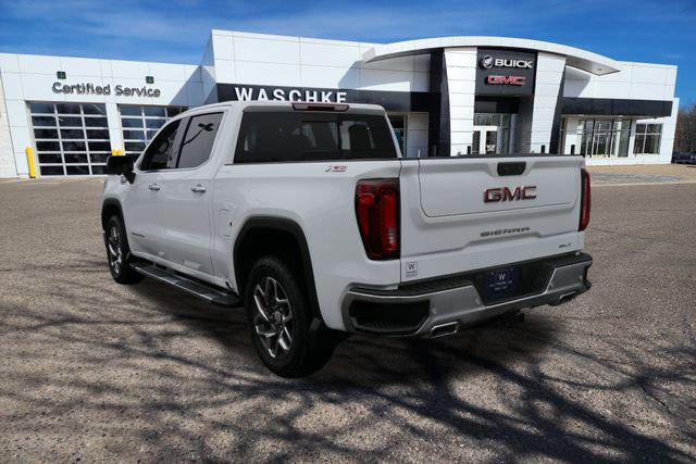
[[[0,184],[3,462],[696,459],[696,184],[594,188],[594,287],[569,304],[352,337],[300,380],[241,310],[113,283],[100,193]]]

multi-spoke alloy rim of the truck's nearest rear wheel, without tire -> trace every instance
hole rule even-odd
[[[282,358],[293,346],[293,308],[283,286],[265,276],[253,288],[253,326],[271,358]]]

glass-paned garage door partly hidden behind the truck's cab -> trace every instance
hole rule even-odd
[[[137,159],[160,127],[184,111],[186,106],[119,105],[124,154]]]

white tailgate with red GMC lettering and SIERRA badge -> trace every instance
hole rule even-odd
[[[405,160],[403,281],[583,247],[580,156]]]

